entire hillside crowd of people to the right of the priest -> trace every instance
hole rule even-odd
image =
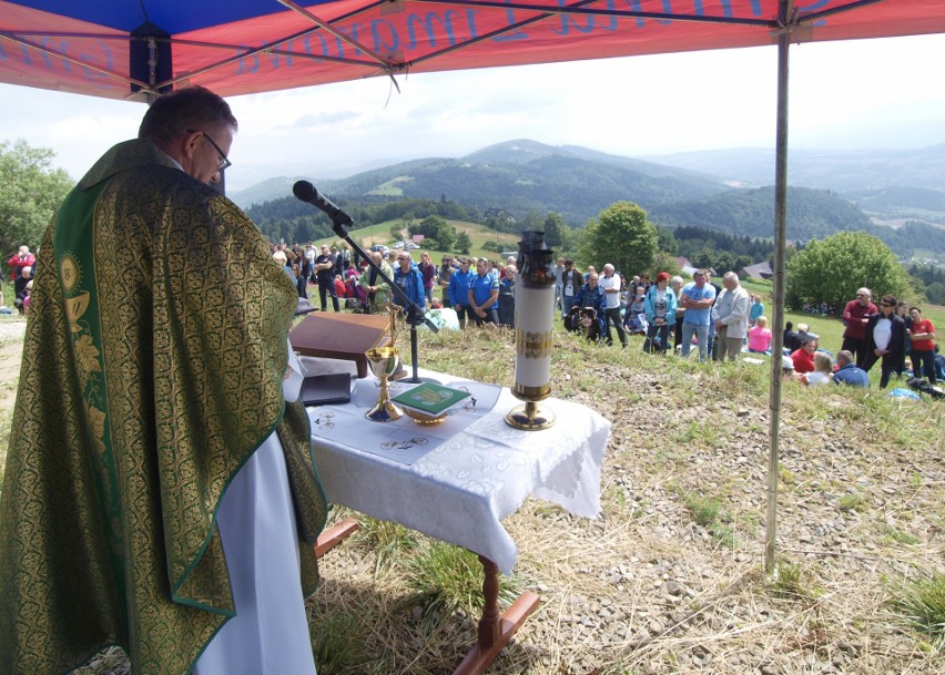
[[[366,262],[357,265],[346,248],[323,245],[321,255],[311,245],[274,249],[301,296],[309,285],[317,285],[323,311],[328,297],[335,311],[339,298],[347,307],[366,313],[386,313],[388,300],[402,304],[376,270]],[[446,255],[436,266],[428,253],[420,253],[419,263],[406,249],[370,255],[438,325],[457,329],[469,324],[515,325],[514,257],[502,266],[486,258]],[[591,341],[612,346],[616,334],[626,349],[628,337],[639,335],[647,352],[670,351],[688,358],[694,347],[700,361],[771,355],[774,340],[764,303],[742,286],[734,272],[725,273],[721,285],[712,280],[709,269],[697,269],[689,283],[665,272],[651,282],[646,273],[627,278],[610,263],[600,272],[593,266],[580,272],[573,259],[559,258],[555,278],[556,310],[565,327]],[[843,344],[835,358],[806,324],[799,323],[795,330],[788,321],[782,340],[785,375],[810,386],[833,381],[866,387],[867,374],[878,364],[881,388],[888,386],[894,374],[925,378],[933,386],[945,376],[935,327],[919,307],[892,296],[876,306],[870,289],[861,288],[846,304],[842,320]],[[906,357],[911,368],[906,368]]]

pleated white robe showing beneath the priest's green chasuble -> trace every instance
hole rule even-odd
[[[286,400],[298,398],[302,374],[289,349]],[[315,675],[299,577],[295,509],[285,457],[273,432],[223,495],[217,525],[236,616],[192,668],[193,675]]]

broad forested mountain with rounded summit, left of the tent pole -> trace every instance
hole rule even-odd
[[[248,206],[291,194],[292,182],[272,178],[232,196]],[[731,190],[700,172],[534,141],[509,141],[455,160],[414,160],[322,181],[317,187],[333,198],[445,197],[480,213],[556,212],[576,227],[620,200],[649,208]]]

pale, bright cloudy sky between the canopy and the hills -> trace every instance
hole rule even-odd
[[[945,143],[945,35],[790,49],[789,146]],[[632,157],[773,147],[773,47],[491,68],[228,98],[240,121],[227,188],[344,177],[529,139]],[[0,141],[55,151],[79,178],[138,132],[142,103],[0,84]],[[316,183],[317,184],[317,183]]]

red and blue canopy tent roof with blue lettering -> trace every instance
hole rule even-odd
[[[945,32],[941,0],[0,0],[0,81],[113,99]]]

